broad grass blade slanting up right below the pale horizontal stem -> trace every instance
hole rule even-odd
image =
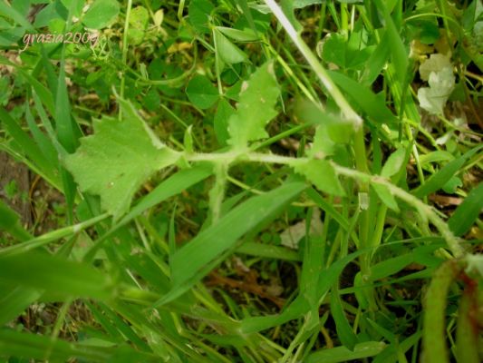
[[[234,247],[237,240],[246,232],[254,231],[262,224],[273,220],[286,203],[295,199],[305,188],[302,182],[286,183],[273,191],[245,201],[232,211],[228,211],[211,227],[201,231],[172,256],[173,289],[159,303],[176,299],[201,280],[209,272],[205,269],[206,266]]]

